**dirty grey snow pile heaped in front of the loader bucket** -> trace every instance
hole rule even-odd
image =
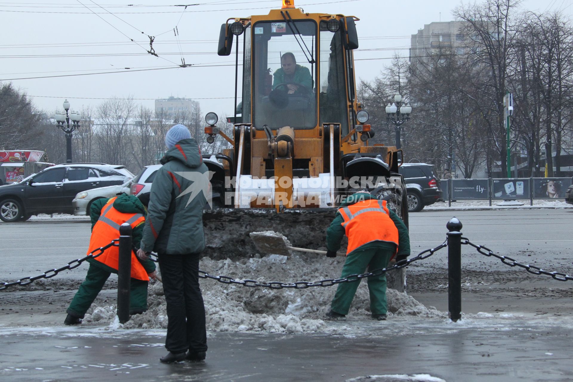
[[[344,258],[327,258],[320,255],[270,255],[263,258],[230,259],[215,261],[203,258],[199,268],[213,275],[227,275],[235,279],[269,281],[319,281],[340,277]],[[207,330],[213,332],[270,332],[303,333],[329,332],[323,321],[330,308],[336,286],[308,289],[246,288],[241,285],[223,284],[213,279],[200,279],[205,301]],[[413,297],[388,289],[386,293],[389,315],[446,318],[447,313],[433,307],[426,308]],[[163,286],[160,282],[150,285],[148,310],[132,316],[124,328],[167,328],[167,311]],[[90,320],[111,322],[115,307],[92,305]],[[93,313],[92,313],[93,312]],[[88,317],[88,316],[87,316]],[[370,297],[366,281],[361,282],[352,302],[347,320],[370,321]],[[85,322],[89,322],[85,320]]]

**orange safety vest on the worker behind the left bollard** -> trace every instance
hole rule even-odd
[[[88,254],[91,251],[108,245],[113,239],[119,238],[119,227],[122,223],[128,223],[131,229],[134,229],[141,223],[145,222],[142,214],[130,214],[119,212],[113,208],[113,202],[116,198],[111,198],[101,209],[100,218],[97,219],[95,226],[92,230],[92,238],[89,240]],[[104,263],[108,267],[117,270],[119,263],[119,247],[111,246],[104,251],[103,254],[95,258],[95,260]],[[138,280],[149,281],[147,271],[135,257],[135,253],[131,251],[131,278]]]

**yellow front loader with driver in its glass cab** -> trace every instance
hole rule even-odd
[[[369,144],[375,132],[356,100],[358,20],[305,13],[284,0],[282,9],[221,26],[218,54],[238,64],[238,107],[231,136],[217,128],[214,113],[206,115],[208,141],[232,146],[213,168],[212,183],[222,185],[214,186],[215,205],[224,208],[203,215],[207,255],[253,254],[249,233],[262,230],[281,232],[297,247],[324,246],[337,207],[362,188],[386,198],[407,224],[401,150]],[[292,59],[296,69],[288,73]]]

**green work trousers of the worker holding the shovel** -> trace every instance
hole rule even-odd
[[[368,267],[368,271],[385,268],[394,254],[393,251],[380,248],[369,248],[352,251],[346,257],[342,268],[342,276],[362,274]],[[336,294],[332,299],[331,309],[339,314],[348,314],[352,299],[362,279],[355,282],[343,282],[338,285]],[[368,277],[368,290],[370,291],[370,312],[372,314],[386,314],[386,274]]]

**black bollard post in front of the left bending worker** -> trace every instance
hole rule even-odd
[[[129,288],[131,283],[131,226],[119,227],[119,264],[117,266],[117,317],[124,324],[129,320]]]

